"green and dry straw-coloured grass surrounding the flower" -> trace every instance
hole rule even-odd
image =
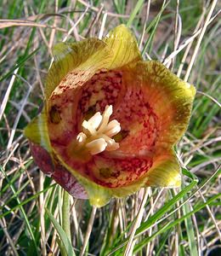
[[[221,254],[216,2],[1,1],[0,255]],[[69,207],[64,190],[34,164],[23,129],[42,104],[53,45],[98,37],[102,26],[105,35],[121,23],[133,30],[144,59],[163,62],[197,89],[176,148],[182,188],[141,189],[100,209],[69,197]]]

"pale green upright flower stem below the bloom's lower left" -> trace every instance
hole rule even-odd
[[[71,226],[70,226],[70,198],[69,194],[64,190],[63,205],[62,205],[62,228],[65,234],[71,241]]]

